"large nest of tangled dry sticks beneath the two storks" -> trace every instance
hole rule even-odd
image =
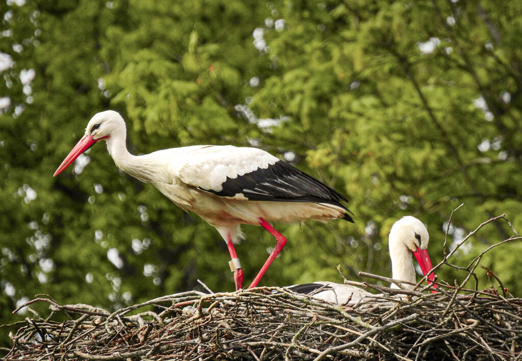
[[[498,218],[503,216],[488,222]],[[5,359],[517,360],[522,358],[522,299],[509,295],[490,270],[500,292],[493,286],[463,288],[487,251],[515,239],[520,237],[494,244],[467,268],[459,267],[467,273],[461,284],[439,283],[438,293],[426,294],[357,283],[382,294],[354,305],[329,304],[278,287],[186,292],[112,313],[37,298],[22,305],[34,317],[10,335],[14,345],[5,350]],[[453,252],[436,267],[451,265],[447,258]],[[49,316],[32,310],[34,302],[48,302]]]

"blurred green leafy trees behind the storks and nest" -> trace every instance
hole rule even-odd
[[[0,312],[48,294],[116,308],[234,289],[226,244],[102,146],[52,174],[93,114],[127,121],[134,154],[256,146],[345,194],[355,225],[276,225],[288,237],[261,285],[391,274],[387,234],[428,225],[433,263],[491,216],[522,229],[522,3],[493,0],[7,0],[0,5]],[[244,226],[252,280],[274,246]],[[513,235],[483,228],[467,266]],[[520,242],[482,260],[522,296]],[[479,288],[489,281],[482,270]],[[464,272],[442,267],[453,284]],[[470,285],[471,287],[473,285]],[[12,329],[12,328],[11,328]],[[0,343],[8,344],[6,332]]]

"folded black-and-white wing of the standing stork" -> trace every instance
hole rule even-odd
[[[346,198],[323,182],[264,150],[209,146],[186,159],[180,179],[222,197],[249,201],[328,203],[346,209]],[[350,212],[351,213],[351,212]]]

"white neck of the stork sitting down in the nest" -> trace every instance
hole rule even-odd
[[[392,227],[389,235],[389,252],[392,260],[392,278],[395,280],[415,283],[415,267],[413,266],[412,254],[404,242],[405,230]],[[413,289],[412,285],[403,285],[406,289]],[[392,288],[399,288],[392,284]]]

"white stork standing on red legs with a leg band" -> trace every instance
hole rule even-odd
[[[218,230],[227,242],[236,289],[243,286],[243,269],[234,249],[243,238],[240,224],[260,225],[276,238],[274,250],[249,286],[255,287],[286,243],[268,222],[343,218],[353,223],[343,204],[345,197],[264,150],[195,145],[134,156],[127,150],[126,137],[120,114],[107,110],[94,115],[85,135],[54,176],[103,139],[118,168],[151,183],[172,202]]]

